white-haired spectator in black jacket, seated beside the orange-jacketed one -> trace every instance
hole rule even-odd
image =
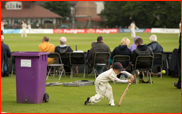
[[[66,37],[61,37],[60,38],[60,45],[55,48],[55,52],[59,53],[60,55],[66,53],[66,52],[73,52],[71,47],[67,46],[66,43],[67,43]],[[69,58],[62,58],[62,62],[64,64],[64,69],[66,70],[66,72],[70,72]]]

